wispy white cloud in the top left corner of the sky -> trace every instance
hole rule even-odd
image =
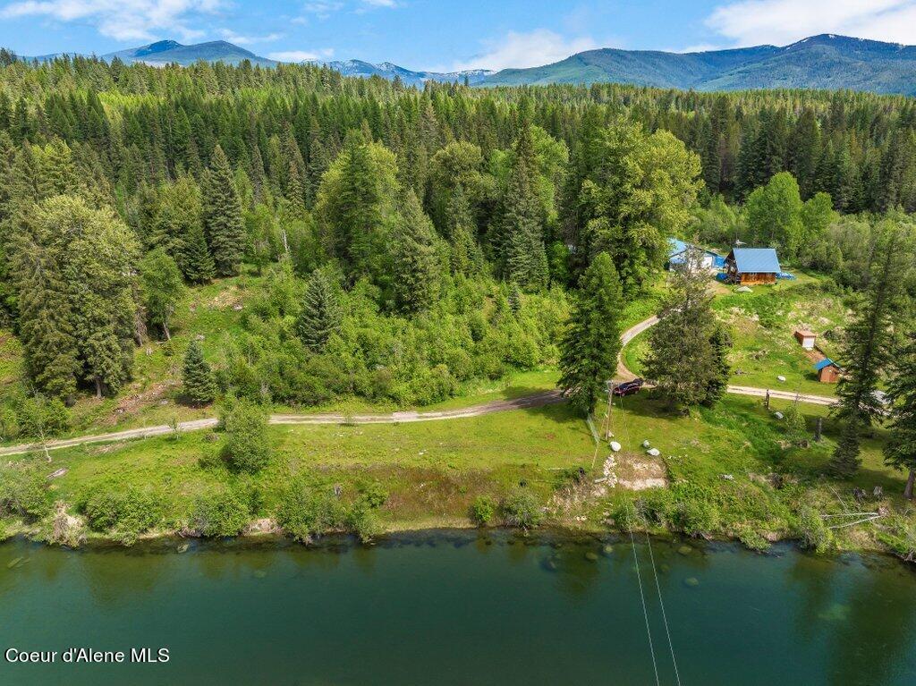
[[[117,40],[152,40],[160,32],[190,40],[204,32],[190,27],[189,20],[212,15],[222,4],[223,0],[19,0],[0,9],[0,16],[80,21]]]

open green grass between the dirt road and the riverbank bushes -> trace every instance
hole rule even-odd
[[[787,407],[774,403],[774,409]],[[810,430],[825,409],[803,408]],[[620,469],[650,461],[641,446],[648,440],[659,448],[660,466],[674,483],[716,493],[748,488],[768,498],[780,495],[761,485],[766,474],[784,474],[814,492],[823,490],[819,474],[836,433],[833,421],[826,419],[822,443],[791,447],[782,422],[758,399],[727,397],[718,408],[679,417],[648,395],[627,397],[622,407],[616,406],[611,429],[623,444],[616,456]],[[282,426],[272,427],[270,434],[274,457],[256,476],[213,466],[218,461],[207,456],[216,454],[224,439],[206,432],[55,452],[48,469],[67,470],[53,489],[55,498],[68,503],[106,484],[154,488],[168,499],[175,525],[188,516],[197,495],[219,485],[255,488],[257,515],[271,517],[278,494],[294,478],[338,484],[344,494],[370,483],[383,485],[388,499],[380,516],[388,529],[467,526],[477,495],[498,501],[520,484],[549,504],[555,522],[600,528],[608,511],[634,496],[623,488],[603,495],[593,491],[610,451],[605,444],[596,450],[585,422],[565,406],[439,422]],[[832,482],[832,487],[848,495],[854,485],[869,492],[880,485],[890,501],[899,502],[903,474],[883,464],[883,438],[876,431],[865,441],[863,468],[855,480]],[[575,478],[580,467],[586,474],[582,482]],[[832,498],[827,491],[822,495],[828,502]]]

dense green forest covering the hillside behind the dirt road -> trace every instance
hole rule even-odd
[[[916,209],[903,97],[0,58],[2,315],[24,359],[5,437],[117,396],[213,279],[257,289],[188,352],[190,404],[429,404],[554,365],[601,253],[627,301],[672,235],[780,245],[858,288],[881,232],[833,211]]]

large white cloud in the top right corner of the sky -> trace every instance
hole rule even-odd
[[[740,46],[822,33],[912,44],[916,0],[740,0],[716,7],[705,23]]]

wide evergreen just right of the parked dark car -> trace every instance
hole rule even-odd
[[[646,376],[669,408],[712,405],[728,380],[727,333],[715,321],[709,275],[703,254],[687,251],[683,264],[671,275],[671,296],[649,332]]]

